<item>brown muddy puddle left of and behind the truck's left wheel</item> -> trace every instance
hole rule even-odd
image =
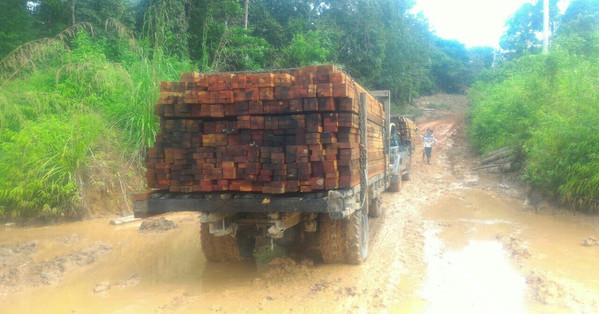
[[[140,222],[115,227],[102,219],[1,230],[0,245],[35,242],[29,263],[43,263],[96,243],[111,245],[112,249],[93,263],[69,268],[58,283],[23,286],[21,291],[0,298],[0,312],[140,313],[154,312],[161,306],[170,312],[168,306],[177,298],[252,285],[259,272],[256,263],[228,267],[205,261],[196,214],[167,218],[179,228],[141,234],[137,232]]]

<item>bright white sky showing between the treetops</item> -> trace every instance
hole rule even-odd
[[[466,47],[499,47],[507,19],[526,2],[535,0],[416,0],[413,13],[422,11],[437,36],[457,39]],[[562,0],[563,12],[570,0]]]

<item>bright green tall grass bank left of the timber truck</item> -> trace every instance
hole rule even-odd
[[[80,25],[0,60],[0,216],[81,215],[90,185],[128,193],[122,178],[158,129],[160,82],[192,66],[106,26],[111,42]]]

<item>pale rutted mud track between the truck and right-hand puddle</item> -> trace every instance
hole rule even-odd
[[[368,262],[362,265],[362,278],[356,286],[366,287],[364,298],[353,300],[349,312],[403,310],[412,303],[423,304],[415,293],[422,282],[426,264],[423,257],[424,231],[426,221],[420,212],[434,202],[445,186],[440,186],[435,178],[447,169],[447,153],[453,147],[451,136],[455,124],[463,120],[462,114],[455,114],[443,120],[433,120],[421,124],[420,129],[432,127],[440,144],[435,147],[433,162],[425,164],[420,159],[421,142],[418,142],[412,159],[412,181],[404,181],[400,193],[385,193],[383,197],[384,215],[370,220],[370,252]],[[406,304],[407,303],[407,304]]]

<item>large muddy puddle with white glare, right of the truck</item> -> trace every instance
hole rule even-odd
[[[428,266],[417,294],[427,302],[425,312],[595,309],[599,247],[581,245],[599,235],[594,218],[524,210],[520,200],[482,190],[443,195],[423,218]]]

